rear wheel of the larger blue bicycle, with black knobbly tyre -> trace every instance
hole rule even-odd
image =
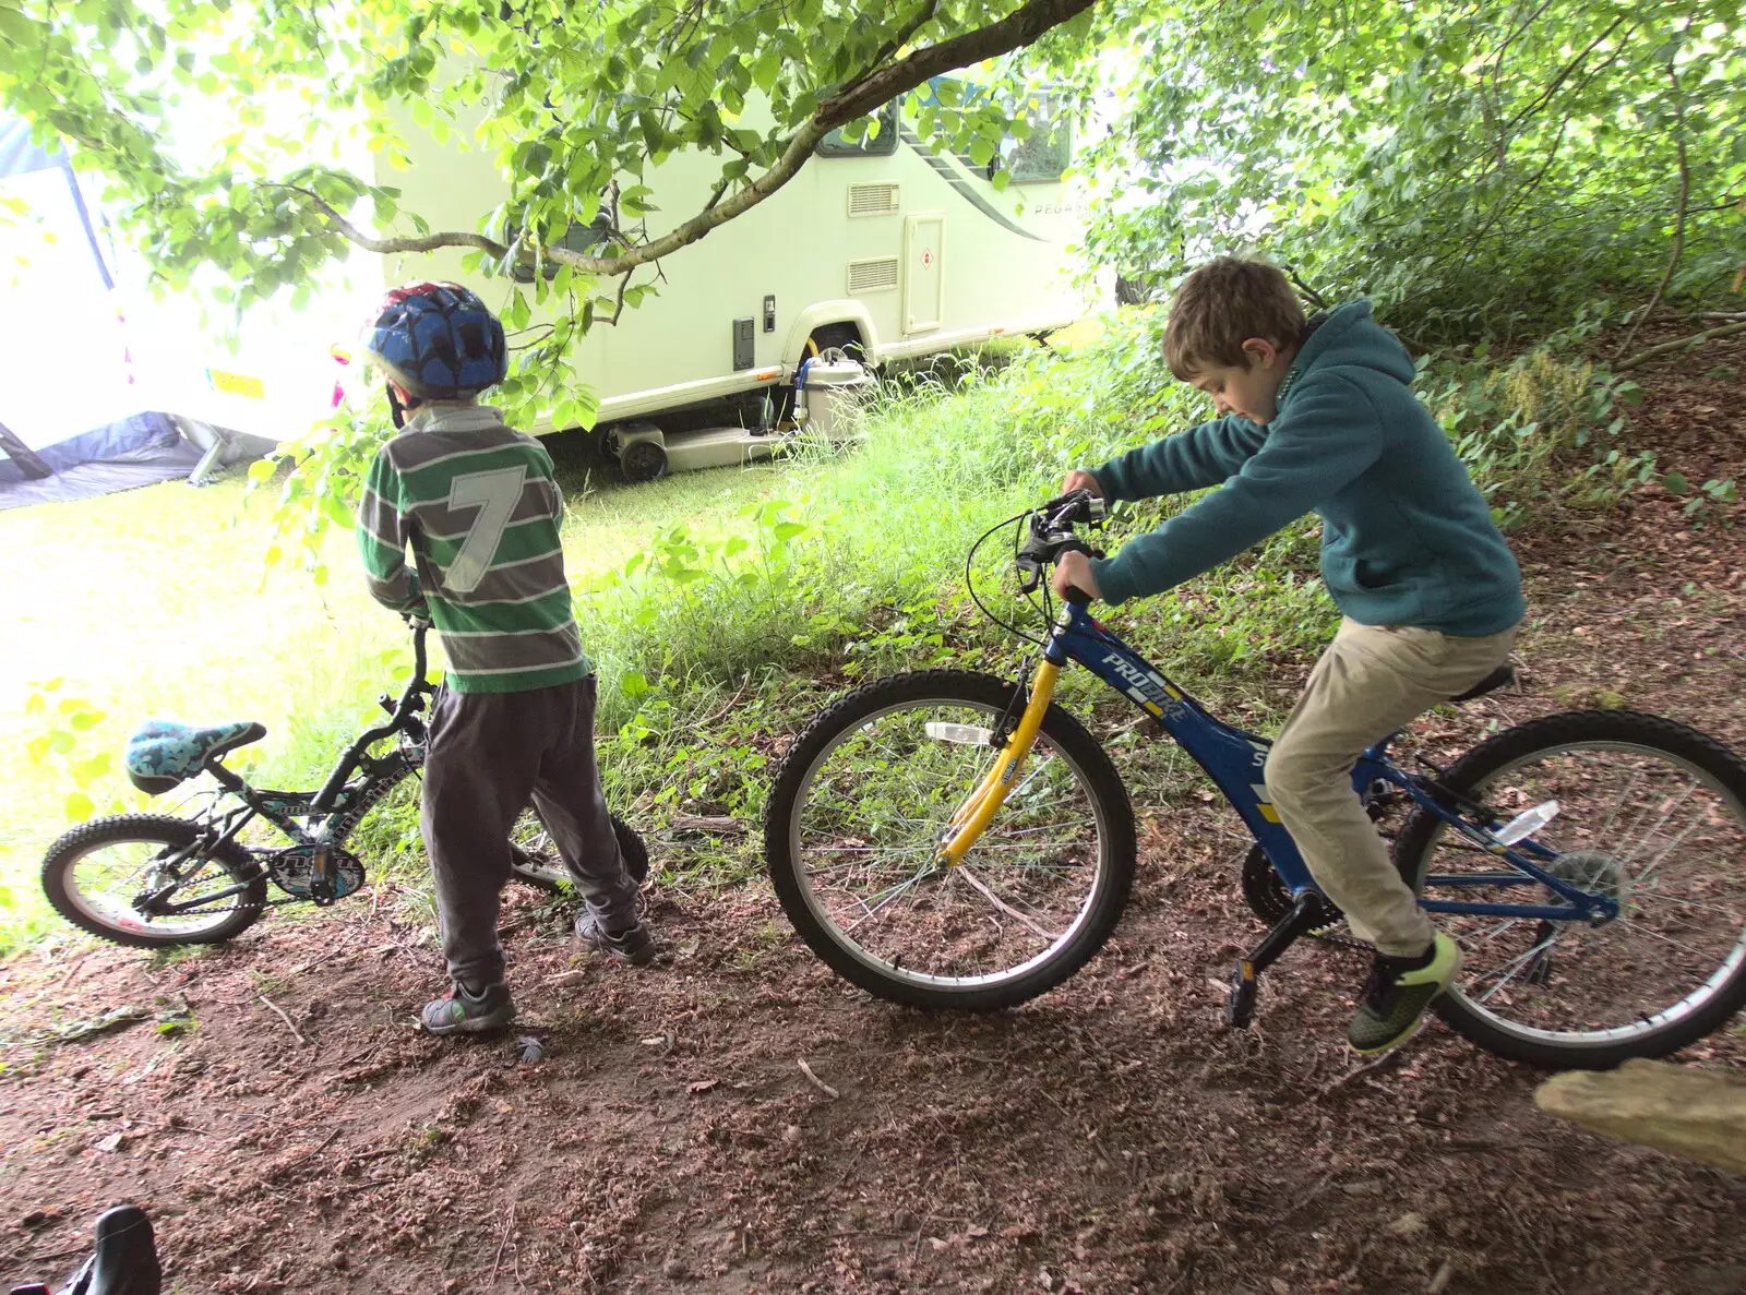
[[[1746,764],[1725,747],[1655,716],[1570,712],[1482,742],[1442,782],[1505,815],[1556,799],[1535,834],[1559,852],[1545,871],[1620,904],[1598,927],[1432,915],[1465,955],[1437,1000],[1451,1028],[1529,1065],[1605,1070],[1673,1052],[1746,1004]],[[1395,852],[1428,899],[1564,902],[1507,883],[1514,869],[1425,810]]]

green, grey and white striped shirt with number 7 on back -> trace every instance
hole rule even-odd
[[[430,616],[457,693],[583,679],[594,663],[564,579],[562,518],[540,442],[485,405],[433,405],[370,464],[358,506],[365,583],[382,606]]]

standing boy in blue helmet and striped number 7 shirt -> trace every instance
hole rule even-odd
[[[655,941],[601,792],[594,665],[559,545],[564,496],[540,442],[477,403],[508,370],[503,325],[466,288],[419,283],[388,293],[363,349],[402,429],[370,464],[358,510],[365,581],[382,606],[431,621],[449,656],[419,827],[454,988],[423,1023],[477,1033],[515,1019],[498,909],[510,829],[529,803],[587,901],[583,944],[646,965]]]

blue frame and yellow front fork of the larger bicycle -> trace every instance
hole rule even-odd
[[[1117,635],[1098,623],[1081,604],[1065,604],[1044,641],[1037,663],[1030,700],[983,784],[971,794],[953,819],[957,829],[941,848],[946,866],[957,864],[993,819],[1006,792],[1014,785],[1025,757],[1042,728],[1042,717],[1055,695],[1055,682],[1069,661],[1077,661],[1114,688],[1117,693],[1149,714],[1180,745],[1206,777],[1213,780],[1231,806],[1243,819],[1255,841],[1266,852],[1280,880],[1299,897],[1315,892],[1310,867],[1297,852],[1296,841],[1280,822],[1278,810],[1268,796],[1264,771],[1273,743],[1213,717],[1200,702],[1177,688],[1151,661],[1133,651]],[[1493,829],[1502,826],[1479,822],[1446,805],[1426,780],[1407,773],[1388,757],[1395,735],[1364,752],[1351,771],[1353,792],[1364,796],[1378,782],[1399,787],[1430,813],[1447,822],[1475,846],[1493,853],[1512,871],[1432,874],[1425,888],[1437,887],[1509,887],[1543,885],[1564,904],[1496,904],[1460,899],[1419,899],[1430,913],[1472,913],[1481,916],[1538,918],[1543,922],[1606,922],[1619,916],[1619,902],[1608,895],[1580,890],[1543,867],[1557,859],[1557,852],[1533,839],[1514,846],[1502,845]]]

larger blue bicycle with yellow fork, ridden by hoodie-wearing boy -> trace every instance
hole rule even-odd
[[[1018,682],[899,674],[819,714],[765,815],[782,908],[836,972],[899,1004],[1011,1007],[1079,970],[1121,918],[1137,850],[1121,775],[1053,702],[1077,661],[1175,738],[1254,834],[1243,894],[1269,930],[1231,977],[1226,1016],[1245,1026],[1261,974],[1341,922],[1268,803],[1269,743],[1215,719],[1081,602],[1053,609],[1048,569],[1093,552],[1076,527],[1102,524],[1100,499],[1076,492],[1007,524],[1046,627],[1025,635],[1034,668]],[[1505,667],[1451,700],[1510,681]],[[1730,750],[1629,710],[1535,719],[1447,768],[1406,770],[1388,747],[1365,752],[1353,789],[1463,946],[1437,1000],[1449,1026],[1533,1065],[1605,1068],[1683,1047],[1746,1004],[1746,764]]]

